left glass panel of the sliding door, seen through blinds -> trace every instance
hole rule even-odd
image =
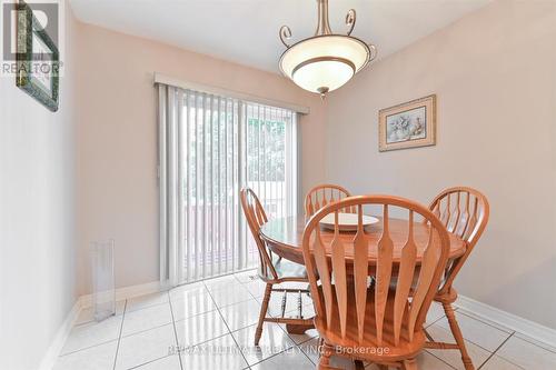
[[[179,91],[182,280],[236,269],[239,252],[239,102]]]

